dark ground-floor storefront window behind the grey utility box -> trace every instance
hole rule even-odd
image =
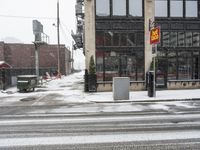
[[[96,51],[98,81],[112,81],[113,77],[130,77],[131,81],[144,80],[144,55],[142,51]]]

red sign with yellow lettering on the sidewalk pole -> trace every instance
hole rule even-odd
[[[154,27],[150,31],[150,44],[160,43],[160,27]]]

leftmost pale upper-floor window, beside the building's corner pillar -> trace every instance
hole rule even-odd
[[[110,15],[110,0],[96,0],[96,15],[97,16]]]

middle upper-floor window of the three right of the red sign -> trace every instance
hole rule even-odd
[[[170,1],[170,16],[183,17],[183,0]]]

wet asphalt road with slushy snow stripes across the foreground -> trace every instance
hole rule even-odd
[[[199,149],[200,101],[0,108],[3,150]]]

